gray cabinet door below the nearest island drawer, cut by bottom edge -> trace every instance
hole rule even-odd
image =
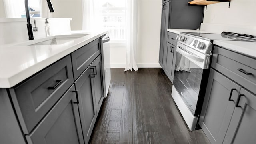
[[[74,85],[31,134],[28,144],[84,144]]]

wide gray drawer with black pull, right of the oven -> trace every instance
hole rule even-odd
[[[256,93],[256,59],[215,46],[211,66]]]

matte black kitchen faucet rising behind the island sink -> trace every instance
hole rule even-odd
[[[51,1],[50,0],[46,0],[46,1],[47,1],[50,12],[54,12]],[[25,0],[25,10],[26,10],[26,18],[27,18],[28,40],[34,40],[33,29],[30,23],[28,0]]]

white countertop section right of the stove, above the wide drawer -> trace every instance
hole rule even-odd
[[[256,58],[256,42],[232,41],[232,40],[214,40],[213,44]]]

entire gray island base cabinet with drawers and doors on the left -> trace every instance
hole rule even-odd
[[[1,88],[1,144],[88,144],[104,99],[101,46],[97,38]]]

